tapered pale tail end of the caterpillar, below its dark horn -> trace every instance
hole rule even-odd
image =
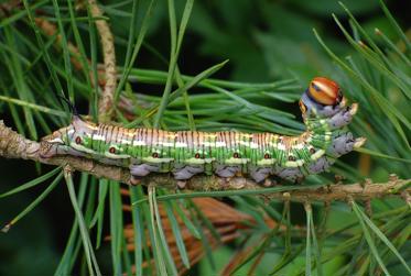
[[[73,122],[68,126],[42,139],[41,157],[48,158],[54,155],[74,154],[73,151],[87,152],[93,131],[96,128],[94,123],[85,122],[78,115],[74,115]]]

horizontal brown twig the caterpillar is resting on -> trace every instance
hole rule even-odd
[[[0,156],[6,158],[23,158],[40,162],[43,164],[65,166],[69,165],[73,169],[86,172],[96,177],[104,177],[112,180],[118,180],[128,185],[132,185],[132,178],[129,169],[117,166],[109,166],[95,162],[94,159],[80,158],[75,156],[57,156],[52,158],[42,158],[40,153],[44,144],[28,140],[7,128],[3,121],[0,120]],[[152,186],[175,189],[177,180],[167,174],[154,174],[148,177],[148,181]],[[267,192],[267,199],[293,200],[293,201],[346,201],[348,198],[355,200],[370,200],[374,198],[382,198],[388,196],[409,195],[411,187],[407,187],[411,179],[398,179],[391,177],[388,183],[382,184],[335,184],[327,188],[316,188],[307,186],[299,190],[288,190]],[[219,178],[216,176],[195,176],[185,185],[186,190],[204,191],[204,190],[261,190],[264,187],[258,185],[251,179],[245,177],[234,177],[231,179]]]

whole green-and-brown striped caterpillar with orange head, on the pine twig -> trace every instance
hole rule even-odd
[[[355,139],[346,128],[358,104],[346,107],[335,81],[315,77],[299,104],[306,131],[298,136],[125,129],[95,124],[74,114],[68,126],[41,141],[41,156],[93,158],[128,167],[136,179],[150,173],[172,173],[182,181],[196,174],[242,174],[257,183],[271,175],[298,183],[304,176],[327,170],[337,157],[365,143],[366,139]]]

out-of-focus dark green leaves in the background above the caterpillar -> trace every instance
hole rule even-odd
[[[344,2],[353,14],[359,16],[365,29],[374,31],[374,27],[379,27],[388,37],[398,38],[380,12],[378,1]],[[183,5],[184,1],[176,1],[177,11],[182,11]],[[403,8],[399,3],[392,5]],[[130,5],[119,9],[121,13],[106,11],[112,16],[116,34],[127,41]],[[165,4],[156,5],[148,35],[148,43],[164,56],[169,55],[166,12]],[[347,14],[338,1],[197,1],[184,38],[180,66],[182,71],[193,74],[203,65],[210,66],[228,58],[230,74],[227,76],[227,69],[221,73],[228,79],[268,81],[292,75],[298,76],[304,87],[312,76],[326,75],[335,69],[316,42],[313,27],[323,34],[337,54],[347,55],[351,51],[333,22],[332,13],[347,22]],[[141,67],[166,69],[159,60],[152,60],[153,57],[143,55],[141,58],[149,59]]]

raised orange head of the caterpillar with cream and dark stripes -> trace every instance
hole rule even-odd
[[[343,92],[334,80],[315,77],[300,100],[303,118],[329,118],[345,107]]]

